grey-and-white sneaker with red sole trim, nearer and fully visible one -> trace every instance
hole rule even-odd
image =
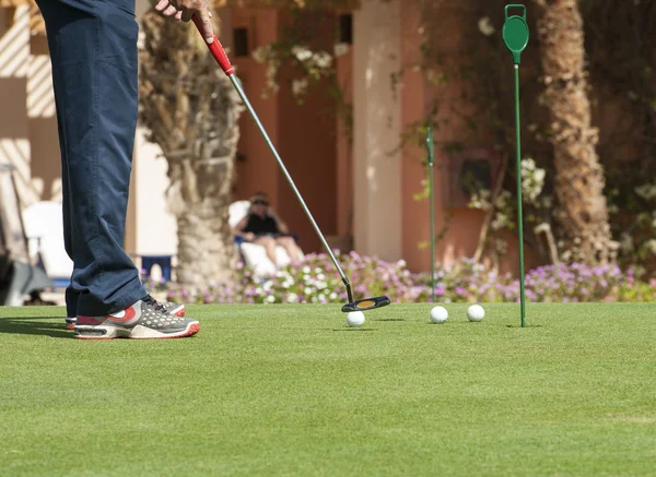
[[[163,305],[147,300],[105,317],[78,317],[73,336],[80,339],[181,338],[200,330],[198,321],[171,314]]]

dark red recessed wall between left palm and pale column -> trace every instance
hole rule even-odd
[[[232,27],[248,28],[249,50],[274,41],[285,22],[286,13],[272,9],[234,9]],[[315,47],[331,48],[332,13],[321,22]],[[311,14],[308,14],[311,16]],[[225,32],[232,35],[232,32]],[[312,93],[304,105],[296,104],[289,88],[294,72],[280,71],[278,95],[261,98],[266,85],[266,64],[249,58],[236,58],[237,75],[273,145],[325,235],[337,232],[337,132],[333,103],[326,85]],[[259,134],[250,115],[244,112],[241,122],[238,151],[246,162],[237,163],[236,199],[248,199],[256,191],[270,194],[273,207],[300,237],[305,252],[321,251],[323,246],[298,204],[278,163]]]

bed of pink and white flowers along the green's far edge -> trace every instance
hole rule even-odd
[[[387,295],[395,302],[430,302],[430,274],[411,273],[406,262],[385,262],[355,252],[342,254],[340,264],[356,297]],[[168,300],[188,303],[329,303],[343,302],[347,291],[327,254],[305,259],[258,278],[239,266],[236,283],[214,283],[204,290],[169,290]],[[144,281],[151,291],[162,285]],[[656,281],[634,278],[616,265],[541,266],[528,272],[526,299],[535,302],[656,301]],[[437,265],[435,295],[440,302],[516,302],[519,281],[499,275],[469,259],[452,266]]]

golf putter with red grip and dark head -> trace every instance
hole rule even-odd
[[[198,28],[198,32],[202,35],[202,22],[201,22],[201,20],[197,15],[194,15],[192,20],[194,20],[194,23],[196,24],[196,27]],[[207,41],[206,41],[206,44],[207,44]],[[294,181],[292,180],[292,177],[288,172],[286,167],[284,167],[284,164],[283,164],[282,159],[280,158],[280,155],[278,154],[278,151],[276,151],[276,147],[273,146],[273,143],[269,139],[269,135],[267,134],[267,131],[265,130],[265,127],[260,122],[257,114],[255,112],[255,109],[253,109],[253,106],[250,105],[250,102],[246,97],[246,93],[244,92],[244,90],[242,88],[242,85],[239,84],[239,81],[235,76],[235,71],[234,71],[234,69],[233,69],[233,67],[232,67],[232,64],[230,62],[230,59],[227,58],[227,55],[225,53],[225,50],[223,49],[223,45],[221,45],[221,41],[219,41],[219,38],[216,37],[216,35],[214,35],[214,41],[211,43],[211,44],[207,44],[207,45],[208,45],[208,48],[210,49],[210,52],[212,53],[212,56],[214,57],[214,59],[216,60],[216,62],[219,63],[219,65],[223,70],[223,72],[225,73],[225,75],[230,79],[230,81],[232,82],[233,86],[237,91],[237,94],[239,95],[239,97],[244,102],[244,105],[246,106],[246,109],[248,109],[248,112],[250,112],[250,116],[253,117],[253,120],[257,124],[257,128],[259,129],[260,134],[262,135],[262,138],[265,139],[265,141],[267,142],[267,144],[269,145],[269,148],[271,150],[271,153],[273,153],[273,157],[276,157],[276,160],[278,162],[278,165],[280,166],[280,169],[282,170],[282,174],[284,175],[284,177],[288,180],[290,187],[294,191],[294,194],[296,194],[296,198],[298,199],[298,202],[301,203],[301,206],[305,211],[305,214],[307,215],[307,218],[309,219],[312,226],[314,227],[315,231],[317,232],[317,236],[321,240],[321,243],[326,248],[326,251],[328,252],[328,255],[330,257],[330,260],[335,264],[335,267],[337,269],[337,271],[338,271],[338,273],[339,273],[339,275],[340,275],[340,277],[341,277],[341,279],[342,279],[342,282],[344,284],[344,286],[347,287],[347,294],[348,294],[348,297],[349,297],[349,302],[345,303],[344,306],[342,306],[341,310],[344,313],[348,313],[350,311],[365,311],[365,310],[372,310],[374,308],[385,307],[385,306],[391,303],[391,301],[389,300],[388,297],[372,297],[372,298],[363,298],[363,299],[360,299],[360,300],[354,300],[353,299],[353,291],[351,290],[351,283],[349,282],[349,278],[347,278],[347,275],[344,274],[343,270],[339,265],[339,262],[337,261],[337,258],[332,253],[332,250],[330,250],[330,246],[326,241],[326,237],[324,237],[324,234],[321,232],[321,230],[319,229],[319,226],[317,225],[317,223],[315,222],[314,217],[312,216],[312,213],[309,212],[309,208],[307,208],[307,205],[305,204],[305,201],[303,200],[303,196],[301,195],[301,192],[298,192],[298,189],[296,189],[296,184],[294,183]]]

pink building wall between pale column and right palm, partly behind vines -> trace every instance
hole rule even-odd
[[[441,3],[433,5],[425,12],[421,12],[418,0],[407,0],[401,12],[401,38],[402,62],[406,71],[402,76],[402,123],[406,131],[411,127],[425,120],[430,116],[434,99],[440,95],[442,107],[435,118],[440,127],[434,130],[435,141],[465,142],[465,155],[484,156],[489,155],[490,147],[494,144],[493,138],[484,128],[479,128],[476,134],[471,134],[465,122],[468,112],[466,102],[457,102],[464,93],[461,83],[450,81],[445,85],[432,85],[425,80],[424,73],[412,70],[413,64],[421,62],[421,52],[418,45],[421,44],[422,21],[427,20],[432,24],[440,24],[440,32],[435,32],[430,38],[432,53],[443,55],[444,61],[458,61],[454,51],[459,50],[471,25],[459,23],[462,15],[455,14],[454,9],[464,8],[464,3]],[[425,17],[422,15],[435,15]],[[444,22],[443,19],[450,19]],[[477,32],[478,33],[478,32]],[[445,67],[446,68],[446,67]],[[454,114],[450,106],[455,106],[458,114]],[[414,271],[427,271],[431,266],[430,248],[420,248],[421,242],[427,242],[431,238],[430,228],[430,202],[427,200],[417,201],[413,195],[423,190],[422,180],[429,179],[427,168],[421,165],[421,159],[427,156],[425,146],[408,146],[403,150],[402,166],[402,257],[408,266]],[[493,164],[499,164],[499,156],[489,155]],[[435,234],[440,235],[444,227],[446,234],[436,243],[435,260],[446,264],[454,261],[472,257],[475,254],[484,214],[481,211],[470,210],[466,204],[454,205],[456,189],[459,188],[452,177],[452,168],[458,160],[457,155],[449,155],[437,144],[435,146],[435,164],[433,179],[435,186],[434,220]],[[449,212],[450,211],[450,212]],[[450,216],[449,216],[450,214]],[[501,260],[502,272],[517,272],[517,240],[508,234],[508,253]],[[535,258],[527,252],[527,264],[534,265]]]

